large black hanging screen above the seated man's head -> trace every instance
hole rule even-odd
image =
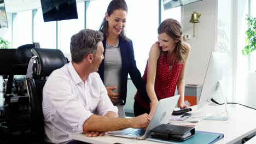
[[[41,0],[44,22],[78,19],[75,0]]]

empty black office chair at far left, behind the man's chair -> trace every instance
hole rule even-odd
[[[25,96],[23,85],[20,85],[18,88],[16,87],[15,92],[19,96],[22,95],[24,97],[13,97],[13,80],[14,75],[26,75],[28,62],[32,57],[31,49],[33,47],[35,47],[34,44],[27,44],[18,47],[18,49],[0,51],[0,59],[4,59],[0,64],[0,66],[3,65],[0,75],[8,75],[4,100],[4,115],[2,116],[3,119],[1,119],[6,130],[2,131],[1,135],[4,141],[10,143],[26,139],[30,135],[30,102],[28,97]]]

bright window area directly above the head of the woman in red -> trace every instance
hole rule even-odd
[[[181,7],[164,10],[164,4],[162,4],[161,5],[161,21],[164,21],[168,18],[172,18],[181,22]]]

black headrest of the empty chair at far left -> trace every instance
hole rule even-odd
[[[33,44],[19,46],[16,50],[16,57],[19,63],[29,63],[30,58],[33,56],[31,49],[34,48]]]

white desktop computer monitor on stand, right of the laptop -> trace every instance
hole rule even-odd
[[[224,86],[222,84],[224,70],[226,67],[226,58],[226,53],[212,52],[197,109],[202,109],[204,106],[208,105],[213,97],[219,97],[223,98],[225,103],[225,111],[228,114],[228,109],[226,108],[226,98],[223,94]],[[228,116],[211,116],[206,117],[205,119],[226,120],[228,119]]]

